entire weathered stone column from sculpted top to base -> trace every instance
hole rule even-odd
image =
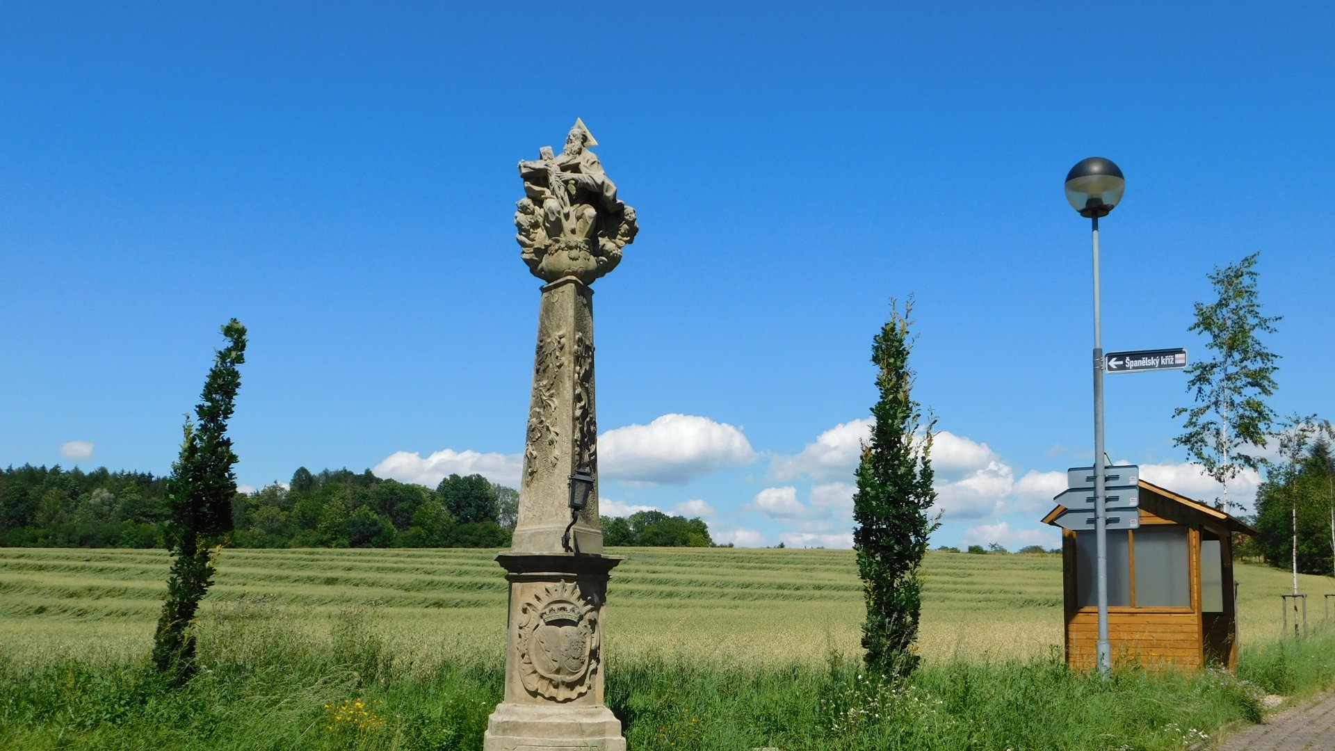
[[[485,751],[625,751],[621,722],[603,704],[607,577],[598,527],[593,289],[634,241],[635,211],[586,147],[577,120],[557,155],[519,163],[515,212],[521,258],[545,282],[525,438],[519,517],[497,556],[510,583],[505,702],[487,723]],[[571,508],[574,477],[586,505]]]

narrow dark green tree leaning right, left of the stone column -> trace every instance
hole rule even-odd
[[[186,440],[164,493],[171,509],[167,548],[172,565],[154,635],[154,663],[178,684],[195,673],[195,612],[214,583],[223,535],[232,528],[236,453],[227,437],[227,420],[242,385],[236,366],[246,361],[246,326],[232,318],[222,331],[230,343],[208,370],[203,401],[195,406],[198,422],[186,420]]]

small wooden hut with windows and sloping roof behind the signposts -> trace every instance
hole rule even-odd
[[[1140,481],[1140,527],[1107,533],[1108,641],[1113,663],[1197,669],[1238,664],[1232,535],[1240,520]],[[1067,510],[1059,505],[1045,524]],[[1099,640],[1095,533],[1061,532],[1067,664],[1095,667]]]

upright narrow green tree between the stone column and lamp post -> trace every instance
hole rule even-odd
[[[906,676],[918,661],[913,653],[922,591],[918,567],[928,536],[939,527],[939,516],[928,516],[936,501],[930,462],[936,421],[929,417],[924,425],[912,397],[912,307],[910,299],[901,314],[892,301],[890,319],[872,343],[880,400],[872,406],[876,424],[862,445],[853,496],[853,547],[866,600],[865,660],[869,669],[890,678]]]

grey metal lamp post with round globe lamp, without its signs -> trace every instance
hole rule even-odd
[[[1103,450],[1103,342],[1099,318],[1099,218],[1107,216],[1121,194],[1127,180],[1121,170],[1101,156],[1081,159],[1067,172],[1067,200],[1071,207],[1093,222],[1093,496],[1095,544],[1099,560],[1099,672],[1107,675],[1112,667],[1112,647],[1108,643],[1108,510],[1104,508],[1104,450]]]

